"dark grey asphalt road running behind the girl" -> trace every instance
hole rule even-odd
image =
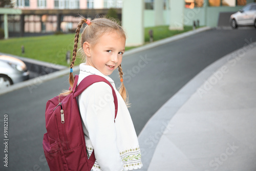
[[[256,41],[255,29],[209,30],[125,56],[122,68],[130,113],[139,134],[148,119],[191,78],[222,56]],[[118,74],[111,76],[118,86]],[[49,170],[42,150],[46,101],[68,88],[68,76],[38,80],[0,96],[0,170]],[[8,168],[4,166],[4,115],[8,115]]]

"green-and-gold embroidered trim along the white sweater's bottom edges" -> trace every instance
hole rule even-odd
[[[87,152],[89,154],[88,156],[90,157],[93,152],[93,147],[87,146]],[[124,170],[139,169],[142,167],[141,153],[140,153],[139,147],[125,149],[124,151],[120,152],[120,157],[123,162]],[[93,171],[101,171],[97,160],[95,161],[92,170]]]

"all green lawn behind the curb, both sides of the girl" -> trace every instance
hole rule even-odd
[[[193,28],[185,26],[182,31],[169,30],[168,26],[145,28],[145,44],[150,41],[148,31],[151,29],[153,30],[154,41],[156,41],[192,30]],[[74,36],[75,34],[63,34],[0,40],[0,52],[69,66],[66,62],[66,53],[70,51],[72,56]],[[22,54],[22,46],[25,47],[24,54]],[[136,47],[125,47],[125,50],[133,48]],[[76,65],[79,63],[80,61],[75,62]]]

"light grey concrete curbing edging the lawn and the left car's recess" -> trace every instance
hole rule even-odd
[[[199,29],[196,29],[196,30],[191,30],[191,31],[188,31],[188,32],[185,32],[185,33],[181,33],[181,34],[178,34],[178,35],[175,35],[175,36],[172,36],[172,37],[164,38],[162,40],[152,42],[151,44],[144,45],[142,47],[138,47],[138,48],[126,51],[124,53],[123,57],[134,54],[134,53],[137,53],[137,52],[140,52],[140,51],[151,49],[151,48],[154,48],[154,47],[157,47],[157,46],[161,46],[161,45],[164,45],[168,42],[172,42],[172,41],[175,41],[175,40],[178,40],[178,39],[182,39],[182,38],[185,38],[185,37],[188,37],[188,36],[200,33],[200,32],[204,32],[206,30],[211,30],[211,29],[212,29],[211,27],[203,27],[203,28],[199,28]],[[48,81],[48,80],[51,80],[51,79],[54,79],[54,78],[57,78],[57,77],[60,77],[62,75],[66,75],[66,74],[70,73],[70,69],[68,69],[65,66],[54,65],[53,63],[38,61],[38,60],[35,60],[35,59],[29,59],[29,58],[24,58],[24,57],[19,57],[19,56],[15,56],[15,55],[11,55],[11,54],[5,54],[5,53],[0,53],[0,54],[13,56],[13,57],[16,57],[20,60],[28,61],[28,62],[31,62],[31,63],[36,63],[37,65],[42,65],[42,66],[47,66],[47,67],[54,67],[54,68],[60,70],[60,71],[56,71],[56,72],[51,73],[51,74],[42,75],[42,76],[27,80],[27,81],[23,81],[23,82],[13,84],[9,88],[6,88],[4,90],[0,90],[0,95],[12,92],[14,90],[18,90],[18,89],[22,89],[22,88],[25,88],[25,87],[32,86],[33,84],[38,83],[38,80],[40,80],[40,82]],[[79,66],[76,66],[76,67],[73,68],[73,72],[77,72],[77,71],[79,71]]]

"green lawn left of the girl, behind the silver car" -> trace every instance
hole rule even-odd
[[[0,41],[0,52],[67,66],[66,53],[68,50],[73,51],[73,37],[73,34],[64,34],[10,38]]]

